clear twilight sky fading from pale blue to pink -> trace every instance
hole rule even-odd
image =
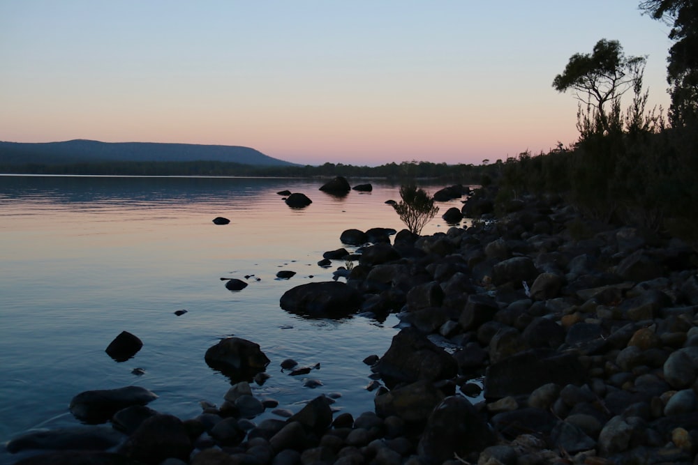
[[[552,88],[602,38],[648,56],[639,0],[0,0],[0,140],[249,146],[295,163],[480,164],[574,143]]]

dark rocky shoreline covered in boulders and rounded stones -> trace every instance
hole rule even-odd
[[[70,449],[23,465],[698,463],[692,247],[585,220],[559,199],[505,208],[489,221],[491,201],[476,195],[462,210],[485,213],[473,227],[403,230],[392,241],[373,231],[346,283],[320,283],[322,299],[313,289],[282,298],[318,317],[399,314],[405,326],[387,352],[366,354],[374,411],[334,416],[320,396],[290,418],[256,423],[273,405],[246,380],[186,420],[145,406],[155,398],[147,390],[91,392],[73,399],[73,414],[101,409],[123,434],[35,434],[8,450]],[[248,343],[227,352],[231,369],[263,373]]]

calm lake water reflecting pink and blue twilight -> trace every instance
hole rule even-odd
[[[0,441],[77,425],[68,403],[84,390],[143,386],[159,396],[151,408],[180,418],[198,415],[200,400],[220,405],[230,381],[206,365],[204,353],[226,335],[260,344],[271,360],[272,377],[253,384],[258,397],[298,411],[323,392],[339,392],[339,409],[372,410],[362,360],[385,353],[398,321],[302,319],[281,310],[279,298],[332,279],[343,263],[323,269],[317,262],[342,247],[343,230],[402,229],[385,204],[399,199],[399,185],[374,182],[371,193],[336,198],[318,190],[322,182],[0,176]],[[313,204],[288,208],[276,194],[285,189]],[[460,205],[440,204],[441,213]],[[231,223],[214,225],[219,215]],[[424,234],[447,230],[438,217]],[[297,275],[277,280],[281,269]],[[245,275],[259,280],[237,293],[219,279]],[[188,313],[176,317],[176,310]],[[116,363],[104,350],[122,330],[144,346]],[[320,369],[288,376],[279,367],[285,358]],[[132,374],[135,367],[145,374]],[[304,388],[307,378],[323,386]],[[0,463],[18,458],[0,452]]]

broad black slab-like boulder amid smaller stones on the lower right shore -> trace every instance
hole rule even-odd
[[[530,349],[487,367],[484,395],[487,399],[500,399],[507,395],[530,394],[547,383],[567,386],[586,381],[586,370],[574,353]]]

